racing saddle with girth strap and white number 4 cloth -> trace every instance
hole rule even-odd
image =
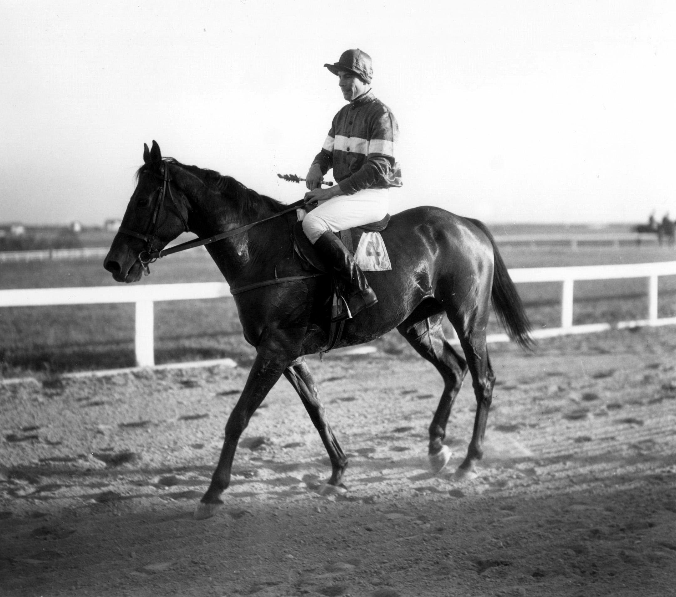
[[[306,216],[306,210],[298,208],[296,212],[298,214],[298,221],[293,226],[293,248],[296,254],[307,264],[308,268],[324,273],[331,273],[317,256],[314,246],[303,231],[303,218]],[[387,228],[388,222],[389,214],[379,222],[341,230],[338,233],[341,242],[354,256],[354,261],[362,271],[384,272],[392,269],[389,256],[387,255],[387,248],[380,234],[381,231]],[[331,298],[331,317],[329,320],[335,319],[343,310],[347,309],[347,302],[343,296],[345,287],[336,276],[332,276],[332,279],[333,296]],[[331,322],[329,343],[326,350],[322,352],[329,352],[329,350],[335,348],[335,345],[337,345],[343,335],[343,327],[345,327],[345,320]]]

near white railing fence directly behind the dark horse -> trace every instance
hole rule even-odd
[[[648,317],[621,321],[618,329],[640,326],[676,324],[676,317],[658,318],[658,278],[676,275],[676,261],[598,265],[555,268],[513,268],[509,270],[515,283],[561,282],[561,327],[538,329],[533,337],[546,338],[566,334],[606,331],[610,323],[573,325],[573,289],[576,281],[646,278]],[[207,299],[231,296],[230,288],[222,282],[189,284],[152,284],[141,286],[93,286],[80,288],[28,288],[0,290],[0,307],[30,307],[49,305],[83,305],[107,303],[135,303],[135,350],[139,366],[155,364],[153,339],[155,301]],[[456,340],[457,341],[457,340]],[[508,341],[506,334],[493,334],[489,342]]]

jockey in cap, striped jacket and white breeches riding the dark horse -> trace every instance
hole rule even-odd
[[[389,208],[389,187],[402,186],[394,150],[399,127],[394,114],[371,91],[370,56],[347,50],[338,62],[324,64],[339,77],[348,105],[333,117],[329,136],[306,176],[306,201],[318,202],[303,220],[303,231],[320,258],[347,283],[347,307],[340,319],[375,305],[378,299],[364,272],[335,235],[338,231],[382,220]],[[322,189],[330,168],[338,183]]]

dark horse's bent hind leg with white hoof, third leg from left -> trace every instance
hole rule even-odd
[[[443,445],[443,439],[446,436],[448,417],[467,373],[464,358],[452,348],[443,335],[442,319],[443,313],[418,320],[414,312],[397,327],[416,352],[429,360],[443,377],[443,392],[429,426],[429,464],[434,473],[441,471],[451,456],[451,451]]]

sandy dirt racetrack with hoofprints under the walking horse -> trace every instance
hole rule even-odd
[[[283,379],[234,481],[194,521],[247,368],[0,386],[0,594],[484,596],[676,594],[675,329],[491,351],[479,477],[427,471],[441,378],[395,341],[310,366],[350,459],[342,496]]]

